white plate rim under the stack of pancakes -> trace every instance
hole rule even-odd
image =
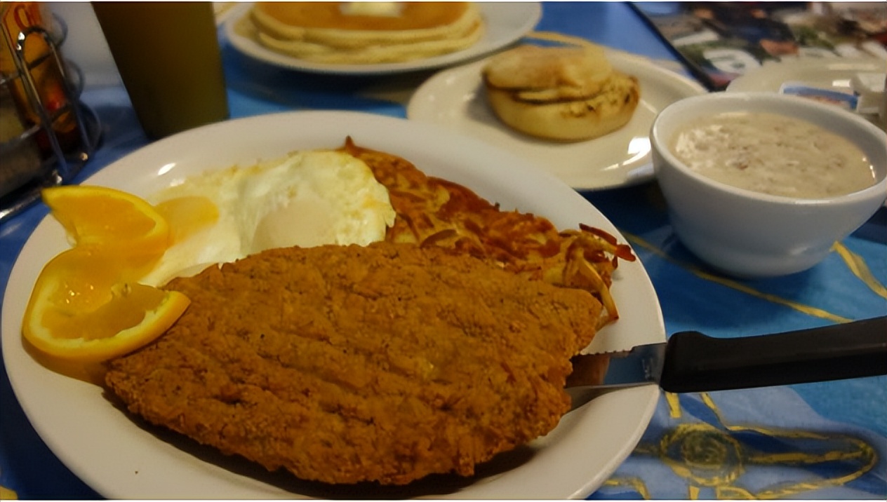
[[[477,5],[486,23],[485,32],[477,43],[463,51],[403,63],[333,65],[306,61],[271,51],[252,38],[239,35],[234,29],[240,20],[249,15],[249,4],[240,5],[237,7],[237,12],[232,12],[231,18],[225,22],[224,31],[235,49],[271,65],[326,74],[383,75],[446,67],[468,59],[480,58],[514,43],[536,27],[536,23],[542,17],[542,6],[538,2],[481,2]]]

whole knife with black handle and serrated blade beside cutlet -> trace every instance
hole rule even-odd
[[[571,361],[568,388],[657,384],[675,393],[884,375],[887,316],[741,338],[687,331],[661,343],[576,356]]]

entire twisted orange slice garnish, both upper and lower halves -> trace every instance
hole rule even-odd
[[[43,190],[75,247],[43,267],[27,303],[22,336],[60,359],[122,356],[172,326],[190,300],[137,283],[171,244],[169,223],[145,200],[100,186]]]

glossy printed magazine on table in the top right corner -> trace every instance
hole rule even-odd
[[[768,61],[887,60],[887,3],[635,2],[710,90]]]

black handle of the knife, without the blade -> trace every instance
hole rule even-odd
[[[741,338],[674,333],[666,345],[660,387],[706,392],[883,374],[887,317]]]

